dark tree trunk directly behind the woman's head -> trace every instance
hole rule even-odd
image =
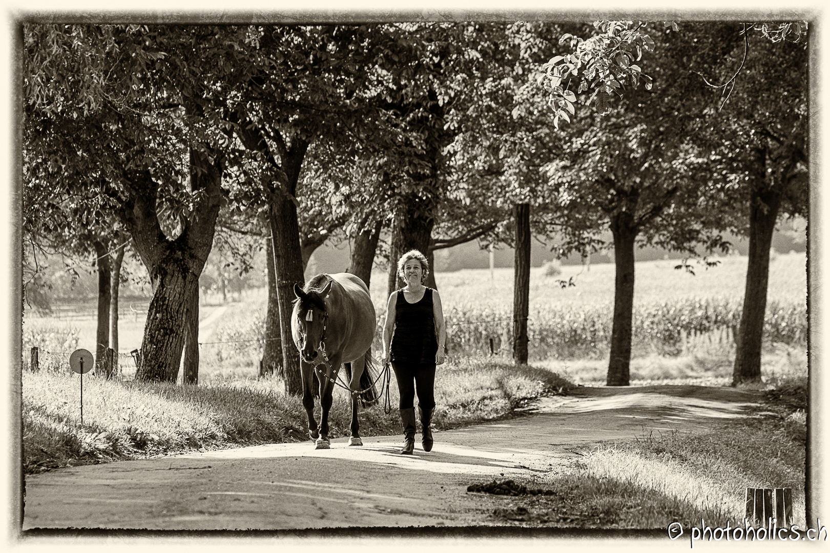
[[[392,228],[392,240],[389,245],[389,277],[387,283],[388,293],[393,293],[403,283],[398,279],[398,260],[401,255],[407,253],[409,250],[418,250],[423,255],[429,252],[429,244],[432,238],[432,226],[435,226],[435,220],[432,218],[432,208],[427,204],[427,201],[419,199],[415,196],[408,196],[403,198],[398,203],[398,209],[395,210],[395,216]],[[432,266],[429,268],[432,274]],[[427,277],[427,286],[435,280],[429,280]]]

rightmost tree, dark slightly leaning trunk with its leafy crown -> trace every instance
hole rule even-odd
[[[788,26],[777,29],[784,32]],[[803,32],[775,40],[764,27],[742,36],[734,56],[740,70],[717,68],[707,80],[720,77],[730,86],[728,99],[710,129],[715,153],[713,181],[719,192],[713,206],[725,212],[720,226],[749,237],[744,306],[735,338],[732,384],[761,380],[769,251],[781,216],[807,216],[808,211],[808,51]],[[806,27],[805,27],[806,29]],[[744,32],[741,32],[744,31]],[[774,62],[785,59],[787,63]],[[716,76],[715,76],[716,75]],[[730,84],[730,78],[734,83]]]

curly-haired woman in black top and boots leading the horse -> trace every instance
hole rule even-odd
[[[438,291],[423,285],[429,274],[427,258],[411,250],[398,260],[398,277],[407,283],[389,296],[383,324],[384,361],[391,362],[401,400],[402,454],[415,449],[415,394],[421,415],[424,451],[432,449],[432,411],[435,409],[435,366],[444,362],[447,332]]]

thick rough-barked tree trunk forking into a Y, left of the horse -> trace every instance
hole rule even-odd
[[[127,214],[135,249],[147,265],[154,294],[147,312],[141,342],[137,380],[175,382],[182,357],[185,313],[188,302],[198,293],[199,275],[213,245],[213,234],[222,201],[223,162],[219,153],[190,150],[190,187],[195,205],[177,238],[168,239],[156,213],[158,183],[149,173],[134,186]]]

